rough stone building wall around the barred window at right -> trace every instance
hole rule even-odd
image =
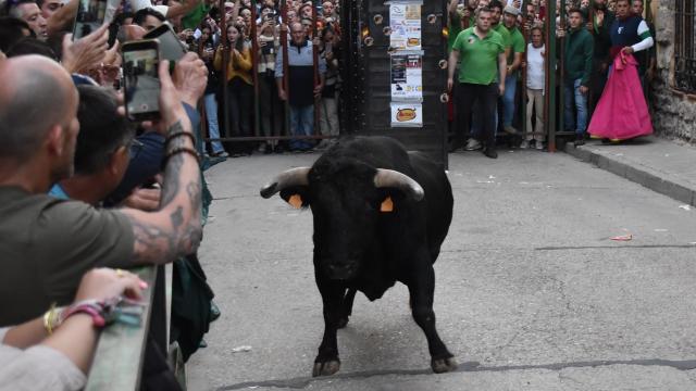
[[[659,135],[696,144],[696,94],[687,96],[672,88],[675,1],[662,0],[655,5],[658,74],[649,102],[652,125]]]

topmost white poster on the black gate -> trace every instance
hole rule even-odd
[[[393,50],[421,50],[421,4],[389,2],[389,46]]]

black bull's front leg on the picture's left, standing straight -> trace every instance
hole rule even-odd
[[[314,367],[312,376],[334,375],[340,369],[340,360],[338,360],[338,344],[336,341],[336,331],[338,330],[339,320],[344,315],[343,299],[345,288],[339,287],[332,281],[323,281],[318,278],[316,286],[322,294],[322,303],[324,306],[324,338],[322,344],[319,345],[319,354],[314,358]]]

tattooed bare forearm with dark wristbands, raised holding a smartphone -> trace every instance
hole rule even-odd
[[[207,71],[202,61],[198,58],[182,59],[178,66],[190,67],[191,72],[187,73],[186,77],[198,79],[204,89]],[[190,121],[182,105],[182,97],[170,77],[167,63],[162,62],[159,71],[160,131],[164,136],[182,133],[192,136]],[[159,210],[152,213],[133,209],[122,210],[133,224],[135,263],[172,262],[176,256],[195,252],[200,243],[200,171],[196,157],[190,153],[172,154],[182,149],[196,149],[192,137],[176,136],[166,146],[165,155],[170,157],[164,167]]]

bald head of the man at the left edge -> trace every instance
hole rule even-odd
[[[0,63],[0,159],[26,163],[51,128],[74,127],[77,91],[57,62],[40,55],[12,58]]]

